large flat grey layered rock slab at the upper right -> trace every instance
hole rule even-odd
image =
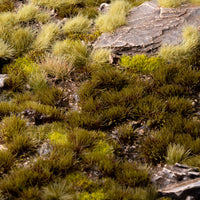
[[[200,6],[161,8],[156,1],[133,8],[127,25],[104,33],[95,48],[112,48],[117,54],[155,53],[163,44],[179,44],[186,24],[200,27]]]

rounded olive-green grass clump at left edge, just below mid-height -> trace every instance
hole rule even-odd
[[[15,115],[5,117],[1,123],[1,133],[10,142],[15,136],[23,134],[27,126],[26,122],[26,120]]]

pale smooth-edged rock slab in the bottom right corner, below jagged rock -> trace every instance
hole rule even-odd
[[[159,190],[160,196],[168,196],[177,200],[200,199],[200,178],[168,185]]]

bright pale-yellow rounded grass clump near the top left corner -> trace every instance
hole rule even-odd
[[[33,21],[38,13],[39,8],[35,5],[24,4],[23,7],[17,11],[17,19],[21,22]]]

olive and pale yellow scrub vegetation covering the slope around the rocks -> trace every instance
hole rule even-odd
[[[116,65],[92,48],[142,2],[0,0],[0,199],[158,200],[152,167],[200,168],[199,30]]]

